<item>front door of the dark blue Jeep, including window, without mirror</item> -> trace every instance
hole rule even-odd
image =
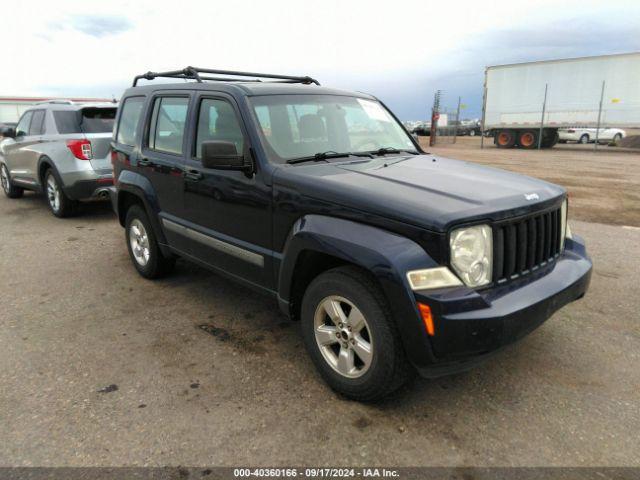
[[[195,131],[186,160],[184,194],[185,226],[193,230],[187,232],[189,253],[271,289],[271,187],[260,171],[247,174],[204,168],[200,161],[202,143],[212,140],[232,142],[245,162],[252,161],[237,106],[222,95],[202,95],[193,117]]]

